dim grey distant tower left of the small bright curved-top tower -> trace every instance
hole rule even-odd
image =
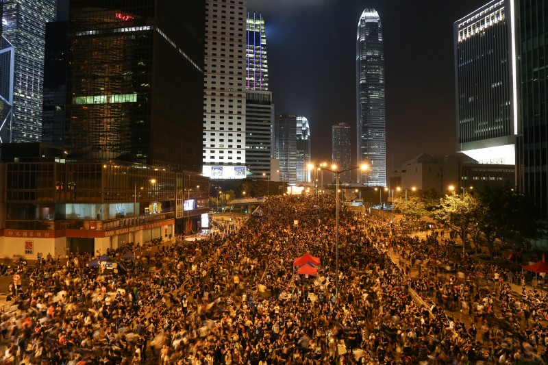
[[[295,186],[297,185],[297,116],[276,114],[273,138],[274,158],[279,160],[280,179],[289,186]]]

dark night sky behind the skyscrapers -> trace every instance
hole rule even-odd
[[[421,152],[455,152],[453,23],[486,2],[248,0],[247,8],[266,19],[275,111],[308,118],[316,162],[330,160],[331,125],[340,122],[351,126],[356,157],[356,27],[364,8],[377,10],[390,171]],[[61,19],[67,3],[60,0]]]

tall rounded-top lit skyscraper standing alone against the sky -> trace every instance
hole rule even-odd
[[[358,173],[358,182],[385,186],[384,46],[376,10],[362,12],[356,38],[356,162],[369,165],[367,171]]]

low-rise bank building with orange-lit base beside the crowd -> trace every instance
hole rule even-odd
[[[2,151],[0,257],[101,255],[132,242],[169,240],[179,211],[200,217],[190,220],[193,230],[208,226],[206,177],[147,165],[71,163],[60,148],[26,145],[32,154],[18,146]],[[58,157],[49,157],[51,151]],[[183,186],[195,188],[190,197]]]

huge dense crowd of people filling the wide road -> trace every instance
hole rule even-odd
[[[0,317],[3,362],[546,361],[547,328],[538,313],[546,297],[540,292],[516,299],[501,285],[501,310],[489,311],[487,301],[466,326],[445,314],[443,296],[473,306],[476,294],[477,304],[484,303],[484,292],[453,275],[436,276],[437,264],[411,278],[407,261],[390,258],[397,252],[413,264],[445,260],[467,274],[493,271],[462,262],[436,237],[419,241],[389,220],[341,205],[336,278],[334,197],[269,197],[260,210],[247,221],[217,222],[218,230],[201,240],[147,243],[124,264],[123,275],[86,266],[90,257],[34,266],[16,307]],[[293,261],[305,252],[321,259],[316,277],[295,274]],[[525,316],[516,303],[536,303],[536,314],[529,309]],[[505,311],[519,328],[489,322]]]

